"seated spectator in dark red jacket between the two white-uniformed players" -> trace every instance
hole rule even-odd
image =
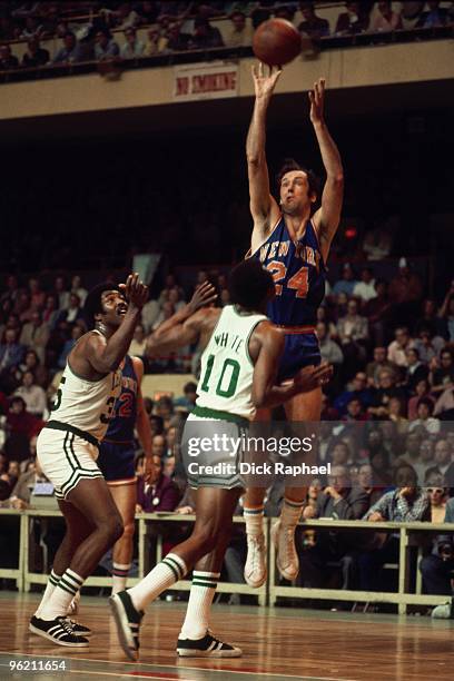
[[[145,464],[144,476],[137,481],[136,512],[175,511],[179,497],[177,485],[162,472],[162,460],[152,455]]]

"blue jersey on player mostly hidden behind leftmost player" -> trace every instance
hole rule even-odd
[[[137,417],[137,391],[138,383],[132,359],[126,355],[125,366],[121,369],[121,393],[115,403],[105,440],[132,442]]]

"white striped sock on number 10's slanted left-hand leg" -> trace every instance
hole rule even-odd
[[[168,553],[136,586],[128,589],[136,610],[145,610],[162,591],[181,580],[187,573],[185,561]]]

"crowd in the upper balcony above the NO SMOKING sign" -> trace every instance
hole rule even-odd
[[[0,2],[0,71],[47,65],[111,61],[251,45],[253,30],[272,18],[322,38],[451,26],[454,3],[346,2],[335,24],[315,2]],[[399,7],[397,7],[399,6]],[[213,21],[224,18],[220,31]],[[145,29],[145,30],[141,30]],[[140,31],[140,36],[138,34]],[[40,41],[61,40],[49,53]],[[27,41],[19,59],[13,41]]]

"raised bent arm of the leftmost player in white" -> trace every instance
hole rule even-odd
[[[128,300],[128,309],[122,323],[108,339],[99,334],[91,334],[86,344],[87,359],[99,374],[108,374],[120,365],[140,320],[141,309],[148,299],[148,286],[139,280],[138,274],[129,275],[126,284],[120,287]],[[117,303],[114,300],[112,304]]]

